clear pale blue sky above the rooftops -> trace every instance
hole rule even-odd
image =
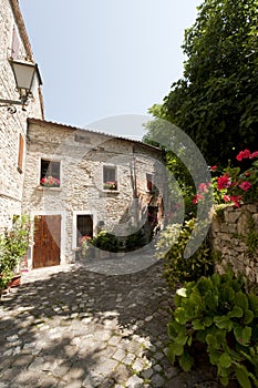
[[[183,75],[184,31],[200,2],[20,0],[43,79],[45,120],[84,127],[113,115],[146,115]]]

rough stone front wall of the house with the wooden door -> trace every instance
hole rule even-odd
[[[40,184],[42,160],[60,163],[60,187]],[[106,166],[115,169],[116,190],[104,187]],[[101,228],[124,236],[146,223],[151,206],[162,227],[163,173],[161,150],[30,119],[22,212],[32,218],[61,215],[61,263],[70,263],[79,247],[80,215],[92,217],[93,236]],[[152,190],[147,176],[152,177]]]

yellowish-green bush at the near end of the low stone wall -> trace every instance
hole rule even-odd
[[[214,270],[214,259],[207,241],[189,258],[184,257],[186,244],[195,225],[196,222],[192,218],[184,226],[168,225],[161,233],[157,243],[157,248],[161,249],[158,256],[164,259],[164,275],[172,288],[178,283],[197,280],[202,275],[210,275]]]

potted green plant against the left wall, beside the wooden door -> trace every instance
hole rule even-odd
[[[19,265],[30,244],[30,219],[28,216],[13,217],[11,229],[0,235],[0,289],[20,283]]]

